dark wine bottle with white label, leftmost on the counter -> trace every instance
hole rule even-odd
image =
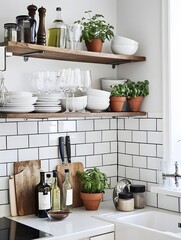
[[[51,208],[51,188],[45,182],[45,173],[40,172],[40,183],[35,187],[35,215],[40,218],[47,217]]]

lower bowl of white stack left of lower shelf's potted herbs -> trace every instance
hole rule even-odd
[[[87,96],[87,109],[94,112],[101,112],[109,107],[109,99]]]

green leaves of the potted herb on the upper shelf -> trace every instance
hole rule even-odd
[[[102,14],[95,14],[91,17],[92,11],[85,11],[88,14],[88,17],[83,17],[81,20],[75,21],[75,23],[82,24],[83,30],[81,35],[81,41],[89,41],[92,39],[101,39],[103,42],[111,40],[114,36],[113,29],[114,27],[109,23],[106,23],[104,16]]]

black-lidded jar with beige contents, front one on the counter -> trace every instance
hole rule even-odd
[[[134,198],[131,192],[120,192],[118,200],[118,210],[130,212],[134,210]]]

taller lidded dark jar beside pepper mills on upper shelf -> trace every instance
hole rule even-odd
[[[17,41],[31,43],[31,18],[28,15],[19,15],[16,17],[18,24]]]

